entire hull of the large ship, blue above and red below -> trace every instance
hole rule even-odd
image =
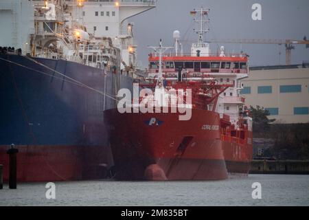
[[[115,101],[102,94],[115,93],[113,74],[63,60],[11,54],[0,58],[4,181],[10,144],[19,149],[18,181],[105,177],[113,158],[103,111],[115,107]],[[123,87],[132,87],[130,78],[121,76],[120,81]]]

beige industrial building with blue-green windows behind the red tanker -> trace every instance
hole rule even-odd
[[[264,107],[275,123],[309,122],[309,63],[251,67],[242,82],[247,105]]]

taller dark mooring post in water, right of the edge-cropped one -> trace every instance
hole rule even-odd
[[[19,149],[14,148],[14,144],[11,145],[11,148],[6,151],[8,155],[10,155],[9,162],[9,188],[16,189],[17,188],[17,153],[19,153]]]

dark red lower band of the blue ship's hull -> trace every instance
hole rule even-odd
[[[8,181],[10,146],[0,146],[3,179]],[[103,146],[15,146],[17,181],[72,181],[101,179],[111,154]],[[109,154],[108,154],[109,153]]]

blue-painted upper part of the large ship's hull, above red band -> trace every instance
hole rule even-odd
[[[111,72],[105,76],[102,69],[71,61],[8,54],[0,58],[7,60],[0,59],[0,146],[99,146],[100,153],[110,152],[103,92],[115,95]],[[120,82],[132,88],[132,78],[120,76]],[[115,100],[106,96],[105,110],[114,107]],[[104,157],[98,164],[112,161]]]

